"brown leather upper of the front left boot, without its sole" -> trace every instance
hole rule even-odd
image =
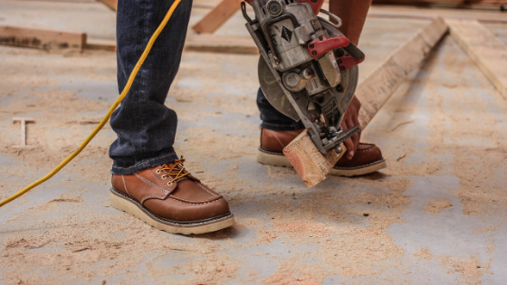
[[[153,214],[178,221],[193,222],[210,219],[229,213],[229,205],[219,195],[195,176],[179,177],[163,168],[183,167],[180,163],[169,163],[149,167],[130,175],[113,175],[112,186],[135,199]],[[184,170],[182,173],[187,173]]]

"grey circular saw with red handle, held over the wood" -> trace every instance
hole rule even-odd
[[[340,18],[320,9],[323,0],[250,0],[242,3],[246,28],[259,48],[259,81],[267,100],[302,121],[322,155],[341,153],[340,144],[359,126],[343,132],[341,120],[358,84],[364,54],[338,30]],[[330,15],[338,24],[317,16]]]

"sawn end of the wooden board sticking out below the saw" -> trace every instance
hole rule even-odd
[[[331,150],[324,157],[319,149],[315,147],[305,129],[287,147],[283,148],[283,155],[289,159],[294,170],[301,176],[304,184],[312,187],[326,179],[331,168],[345,154],[347,148],[343,144],[341,144],[341,147],[343,151],[340,155],[336,151]]]

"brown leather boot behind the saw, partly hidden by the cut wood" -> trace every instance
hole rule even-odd
[[[292,131],[277,131],[262,128],[261,147],[257,153],[257,161],[269,166],[292,167],[289,160],[283,156],[283,147],[286,147],[296,138],[303,129]],[[382,157],[380,148],[374,144],[359,143],[358,149],[352,159],[341,157],[331,168],[333,176],[362,176],[386,168],[386,160]]]

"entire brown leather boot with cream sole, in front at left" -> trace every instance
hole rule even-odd
[[[110,204],[167,233],[209,233],[233,225],[224,197],[190,175],[184,161],[113,175]]]

